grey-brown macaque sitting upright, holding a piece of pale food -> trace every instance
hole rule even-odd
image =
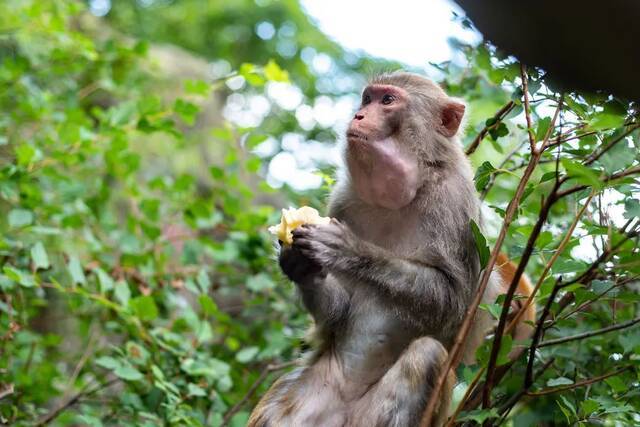
[[[365,88],[330,198],[335,219],[295,229],[280,253],[320,345],[273,384],[249,426],[419,424],[479,278],[470,222],[480,203],[456,136],[464,111],[414,74],[384,74]],[[500,283],[493,274],[489,297]],[[476,323],[479,343],[490,325]]]

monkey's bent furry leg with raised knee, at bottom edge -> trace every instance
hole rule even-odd
[[[414,340],[380,381],[358,402],[349,417],[353,427],[409,427],[420,425],[447,350],[431,337]],[[455,385],[453,373],[439,397],[434,426],[444,423]]]

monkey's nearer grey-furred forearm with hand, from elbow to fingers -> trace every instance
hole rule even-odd
[[[443,256],[401,258],[359,239],[337,221],[296,229],[294,242],[328,271],[369,283],[397,305],[428,310],[435,324],[464,316],[472,286],[464,286],[465,269]]]

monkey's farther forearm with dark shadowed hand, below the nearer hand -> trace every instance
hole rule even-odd
[[[349,305],[349,294],[322,266],[303,255],[300,249],[282,247],[280,268],[298,285],[302,301],[317,324],[330,325],[341,320]]]

